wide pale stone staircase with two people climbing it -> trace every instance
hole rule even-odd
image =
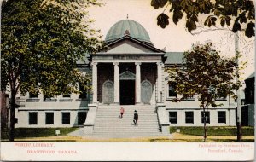
[[[153,106],[122,106],[125,108],[120,118],[120,106],[99,106],[92,136],[138,137],[161,136],[157,113]],[[134,110],[138,113],[138,126],[133,124]]]

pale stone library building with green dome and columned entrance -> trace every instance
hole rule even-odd
[[[152,115],[162,133],[168,133],[169,126],[203,125],[197,96],[181,102],[171,101],[178,94],[167,83],[165,67],[181,64],[182,52],[157,49],[146,29],[134,20],[114,24],[105,43],[107,49],[86,55],[88,61],[78,63],[81,71],[92,75],[92,92],[83,96],[59,95],[47,101],[43,95],[20,96],[15,127],[81,126],[85,133],[93,133],[102,107],[104,111],[114,107],[117,111],[119,107],[153,108]],[[222,107],[208,108],[208,125],[235,126],[235,101],[227,97],[220,102]],[[147,114],[144,116],[147,123]]]

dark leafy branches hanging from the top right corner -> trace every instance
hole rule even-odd
[[[232,26],[232,31],[243,31],[247,37],[255,36],[255,8],[251,0],[151,0],[154,9],[171,6],[172,21],[177,22],[186,16],[186,28],[195,31],[199,26],[199,19],[203,26]],[[165,9],[165,10],[166,10]],[[164,12],[165,12],[164,10]],[[165,28],[169,25],[169,16],[165,13],[157,17],[157,25]]]

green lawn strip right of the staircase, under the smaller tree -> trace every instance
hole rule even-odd
[[[185,135],[203,136],[203,127],[170,127],[170,133],[180,129],[180,133]],[[254,127],[242,127],[242,136],[254,136]],[[236,127],[230,126],[209,126],[207,127],[207,136],[236,136]]]

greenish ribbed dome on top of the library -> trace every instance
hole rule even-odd
[[[122,38],[125,35],[129,35],[132,38],[136,38],[145,43],[151,43],[148,32],[146,29],[134,20],[120,20],[115,23],[108,31],[105,38],[106,43],[111,43],[118,38]]]

